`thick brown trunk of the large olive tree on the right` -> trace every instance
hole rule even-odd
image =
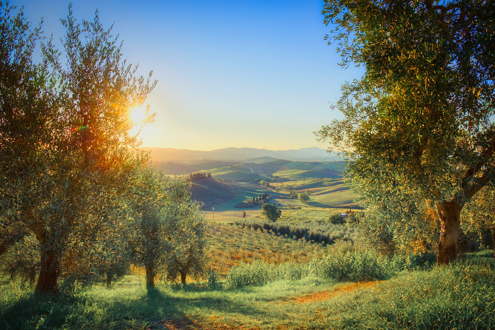
[[[439,265],[447,265],[451,260],[457,258],[457,239],[459,237],[461,210],[462,206],[455,201],[444,201],[437,205],[437,212],[442,226],[437,256]]]

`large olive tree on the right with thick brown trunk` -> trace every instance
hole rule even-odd
[[[363,75],[342,87],[344,119],[316,134],[347,156],[370,204],[395,208],[407,197],[434,210],[438,263],[447,264],[462,208],[495,180],[495,6],[325,0],[323,14],[341,65],[363,66]]]

